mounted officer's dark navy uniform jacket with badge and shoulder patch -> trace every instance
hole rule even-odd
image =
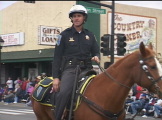
[[[61,39],[57,41],[54,53],[53,77],[60,77],[60,68],[63,57],[86,59],[88,57],[100,56],[99,46],[93,33],[83,29],[78,33],[72,26],[64,30]]]

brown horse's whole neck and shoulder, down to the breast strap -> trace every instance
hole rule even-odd
[[[138,56],[134,54],[117,61],[106,69],[106,72],[93,79],[84,95],[112,112],[123,109],[125,99],[134,84],[133,69],[137,66],[138,61]]]

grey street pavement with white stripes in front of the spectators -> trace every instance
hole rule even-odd
[[[0,107],[0,114],[6,114],[8,112],[9,114],[15,114],[15,115],[16,114],[17,115],[20,115],[20,114],[33,114],[34,115],[32,107],[26,106],[25,103],[15,103],[15,104],[10,103],[8,105],[4,105],[4,102],[0,102],[0,106],[3,106],[3,107],[8,106],[10,108],[10,110],[7,110],[7,109]],[[13,107],[16,109],[12,110]],[[132,118],[132,116],[128,114],[126,115],[126,118]],[[136,116],[134,120],[162,120],[162,118],[153,118],[153,117],[143,118],[141,116]]]

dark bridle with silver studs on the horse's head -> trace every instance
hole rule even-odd
[[[148,68],[157,69],[157,67],[149,66],[146,63],[147,60],[154,59],[154,58],[155,58],[154,56],[151,56],[151,57],[145,58],[145,59],[140,58],[139,63],[141,65],[142,70],[146,74],[147,78],[151,81],[151,85],[148,88],[151,89],[153,86],[155,86],[155,92],[158,92],[160,87],[157,85],[157,83],[158,83],[158,81],[162,80],[162,76],[160,76],[158,79],[155,79],[153,77],[153,75],[150,73],[150,71],[148,70]],[[140,83],[141,83],[141,81],[140,81]]]

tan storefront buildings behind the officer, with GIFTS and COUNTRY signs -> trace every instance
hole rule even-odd
[[[111,2],[102,3],[111,5]],[[5,84],[9,76],[13,80],[17,77],[34,79],[42,72],[52,76],[52,60],[58,34],[72,25],[68,13],[75,4],[82,4],[87,9],[95,8],[94,11],[89,11],[85,28],[96,35],[100,44],[102,35],[111,34],[109,8],[83,1],[36,1],[35,4],[19,1],[0,11],[0,35],[5,40],[1,54],[0,84]],[[137,36],[146,34],[144,40],[147,40],[152,35],[148,41],[154,43],[158,53],[162,52],[162,10],[115,4],[115,13],[114,31],[126,34],[129,46],[138,46]],[[133,26],[135,23],[139,26],[138,29],[128,31],[123,27],[128,24]],[[130,49],[130,52],[135,49]],[[109,56],[101,54],[101,66],[109,60]]]

